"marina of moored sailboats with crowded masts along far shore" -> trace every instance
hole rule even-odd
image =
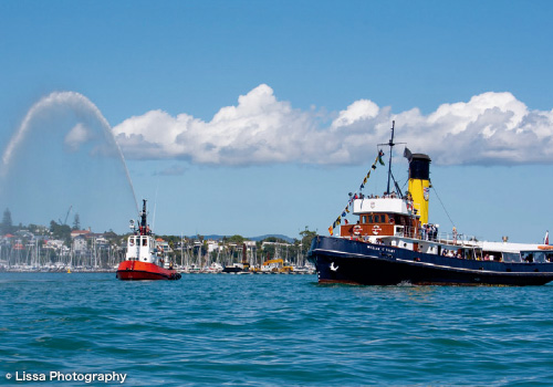
[[[0,272],[115,273],[121,262],[137,257],[138,229],[117,236],[65,228],[66,233],[60,236],[45,227],[12,227],[12,233],[0,236]],[[305,259],[312,234],[305,230],[300,240],[292,241],[240,236],[144,237],[147,254],[163,259],[167,268],[173,264],[179,274],[313,274],[314,266]]]

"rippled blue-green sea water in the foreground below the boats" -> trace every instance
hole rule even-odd
[[[0,273],[0,385],[113,386],[77,378],[117,374],[127,386],[552,386],[552,295],[316,275]]]

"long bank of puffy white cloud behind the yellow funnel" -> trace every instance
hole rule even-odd
[[[124,121],[114,134],[127,158],[344,165],[371,160],[376,144],[387,143],[392,121],[396,139],[435,164],[553,163],[553,111],[530,111],[511,93],[483,93],[428,115],[418,108],[394,114],[368,100],[325,114],[295,109],[262,84],[210,122],[152,111]]]

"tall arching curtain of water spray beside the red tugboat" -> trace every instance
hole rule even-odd
[[[123,154],[96,105],[55,92],[29,109],[2,154],[0,206],[15,223],[71,223],[79,213],[81,226],[96,231],[136,216]]]

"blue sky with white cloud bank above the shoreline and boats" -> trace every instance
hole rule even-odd
[[[0,147],[41,98],[73,92],[113,127],[158,233],[296,237],[327,232],[395,119],[396,139],[432,158],[460,232],[539,242],[552,215],[552,17],[549,1],[4,0]],[[83,112],[65,126],[42,112],[18,160],[46,172],[66,133],[84,133],[73,126]],[[24,151],[33,142],[42,161]],[[74,176],[96,165],[72,160],[82,174],[52,174],[38,189],[54,192],[52,208],[6,205],[15,222],[61,218],[82,197],[60,187],[88,186]],[[382,194],[385,178],[378,169],[365,192]],[[95,189],[111,190],[105,180]],[[436,192],[430,219],[450,230]],[[128,206],[88,195],[74,210],[83,226],[123,231]]]

